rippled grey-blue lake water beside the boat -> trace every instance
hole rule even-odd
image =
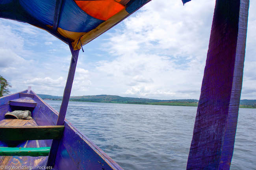
[[[46,101],[59,111],[61,101]],[[69,102],[66,119],[124,170],[186,170],[197,107]],[[230,170],[256,170],[256,109],[239,109]]]

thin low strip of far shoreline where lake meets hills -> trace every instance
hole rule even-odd
[[[44,100],[50,100],[50,101],[62,101],[61,99],[44,99]],[[104,102],[104,101],[82,101],[82,100],[76,100],[76,99],[69,99],[69,101],[74,102],[96,102],[96,103],[117,103],[117,104],[145,104],[145,105],[162,105],[162,106],[193,106],[197,107],[198,102]],[[250,106],[250,105],[243,105],[240,104],[239,108],[251,108],[255,109],[256,106]]]

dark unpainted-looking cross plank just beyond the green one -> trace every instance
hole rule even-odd
[[[1,141],[59,139],[64,126],[0,126]]]

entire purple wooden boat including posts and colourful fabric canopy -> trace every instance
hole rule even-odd
[[[47,166],[56,170],[122,169],[67,122],[65,114],[80,48],[149,1],[0,1],[0,17],[45,29],[68,44],[72,53],[59,113],[30,89],[0,98],[0,168],[11,169],[15,165],[31,166],[30,169]],[[243,79],[248,9],[249,0],[216,0],[187,170],[230,168]],[[4,114],[13,110],[31,110],[33,120],[4,119]]]

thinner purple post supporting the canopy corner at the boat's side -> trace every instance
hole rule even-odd
[[[59,110],[59,117],[58,117],[56,125],[64,124],[65,115],[66,115],[66,111],[67,111],[67,107],[68,107],[68,103],[69,103],[69,97],[70,97],[71,88],[72,88],[72,83],[73,83],[74,75],[75,75],[75,71],[76,71],[76,63],[77,63],[78,54],[79,54],[79,49],[74,51],[70,41],[69,41],[69,48],[72,53],[72,58],[71,58],[71,62],[70,62],[69,74],[68,74],[64,94],[63,94],[62,103],[61,103],[61,107]],[[55,139],[52,140],[52,146],[50,149],[47,166],[52,166],[52,167],[54,166],[58,146],[59,146],[59,140],[55,140]]]

